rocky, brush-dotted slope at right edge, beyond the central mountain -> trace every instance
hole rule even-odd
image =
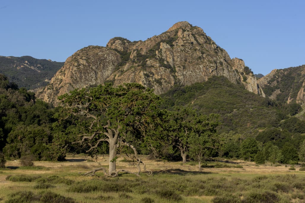
[[[257,83],[270,99],[284,103],[305,103],[305,65],[274,69]]]

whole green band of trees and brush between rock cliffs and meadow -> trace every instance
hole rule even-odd
[[[185,158],[199,165],[215,157],[259,164],[296,164],[305,158],[305,121],[295,116],[301,106],[263,98],[225,77],[175,86],[161,96],[139,85],[114,88],[110,83],[72,95],[61,97],[62,104],[55,108],[0,75],[0,150],[5,158],[63,160],[67,152],[94,157],[109,153],[102,142],[107,138],[99,135],[110,131],[117,131],[125,144],[117,154],[135,148],[154,158]],[[150,100],[147,109],[145,98]],[[115,120],[118,116],[121,119]],[[92,139],[78,142],[80,132],[91,133]],[[133,148],[127,149],[128,143]],[[100,147],[93,147],[97,144]]]

